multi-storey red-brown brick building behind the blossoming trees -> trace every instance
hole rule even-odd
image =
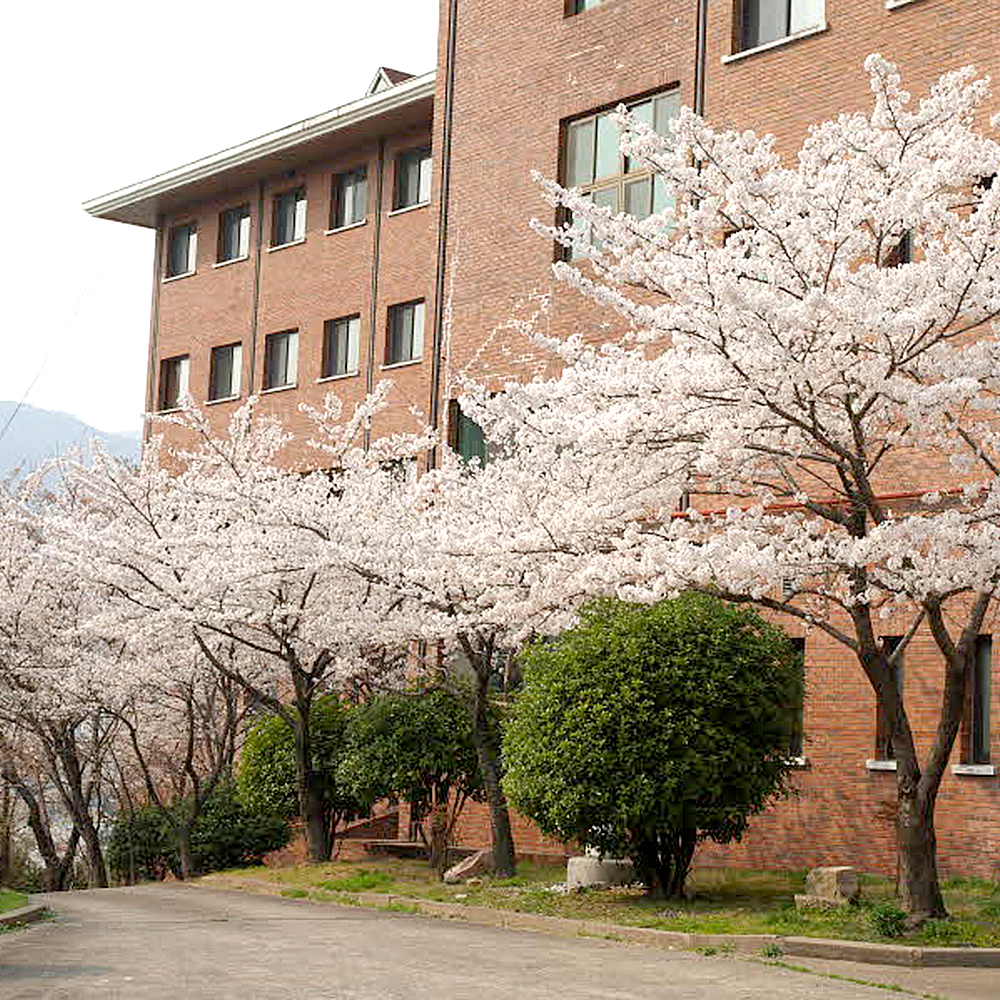
[[[655,210],[651,179],[609,147],[604,112],[624,102],[659,127],[691,105],[715,124],[772,132],[792,154],[810,122],[869,105],[869,52],[899,63],[914,92],[970,62],[1000,76],[997,0],[441,0],[440,17],[436,73],[379,70],[357,101],[87,203],[156,229],[147,409],[189,388],[222,419],[253,392],[297,430],[299,402],[332,388],[350,404],[391,376],[398,405],[376,434],[414,428],[410,406],[455,434],[455,373],[548,369],[504,325],[534,296],[551,303],[552,333],[600,336],[613,322],[553,282],[553,248],[528,227],[550,211],[532,170],[600,204]],[[874,695],[840,647],[800,638],[801,794],[741,845],[706,845],[699,858],[891,871],[894,762],[877,746]],[[940,669],[929,637],[910,649],[919,745]],[[938,839],[944,875],[995,878],[1000,683],[986,636],[981,653],[978,728],[970,721],[956,747]],[[470,806],[459,835],[486,843],[485,814]],[[515,838],[524,853],[562,852],[526,822]]]

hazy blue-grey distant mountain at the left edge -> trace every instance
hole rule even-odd
[[[0,400],[0,431],[16,409],[17,403]],[[107,434],[68,413],[22,406],[0,438],[0,479],[18,468],[35,469],[47,459],[65,455],[95,438],[113,455],[139,457],[142,445],[139,431]]]

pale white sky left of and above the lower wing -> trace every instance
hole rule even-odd
[[[0,400],[137,430],[153,231],[81,203],[362,97],[380,65],[433,69],[437,19],[438,0],[11,5]]]

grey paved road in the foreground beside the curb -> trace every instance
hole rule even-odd
[[[176,884],[35,898],[58,917],[0,936],[2,1000],[886,996],[738,958]]]

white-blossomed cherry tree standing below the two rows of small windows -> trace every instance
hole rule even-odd
[[[126,635],[139,660],[168,647],[197,651],[218,678],[286,721],[317,861],[331,845],[311,707],[360,662],[396,659],[382,632],[398,599],[346,569],[339,542],[352,532],[344,483],[424,447],[406,437],[363,446],[387,391],[336,428],[340,406],[328,402],[324,471],[313,473],[280,462],[290,436],[254,419],[252,402],[221,437],[192,407],[172,421],[174,446],[154,443],[137,469],[100,454],[91,467],[75,466],[69,478],[85,511],[57,527],[61,558],[107,592],[91,628]],[[316,507],[328,511],[322,534],[301,521]]]

